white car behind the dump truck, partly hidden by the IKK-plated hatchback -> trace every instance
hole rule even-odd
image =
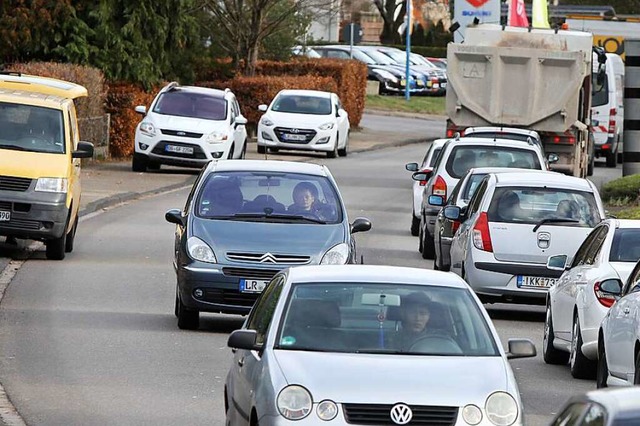
[[[515,167],[546,170],[540,147],[509,139],[453,138],[447,142],[428,177],[420,208],[418,251],[424,259],[435,256],[434,229],[436,217],[451,190],[472,167]],[[414,179],[422,176],[414,176]]]

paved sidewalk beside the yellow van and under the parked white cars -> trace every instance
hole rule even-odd
[[[367,128],[352,130],[349,138],[349,154],[424,141],[417,132],[397,130],[372,131]],[[264,159],[257,153],[255,140],[247,146],[247,159]],[[321,153],[283,151],[269,153],[269,159],[287,161],[320,161],[331,164]],[[347,157],[348,158],[348,157]],[[198,169],[162,166],[159,171],[138,173],[131,171],[130,160],[88,161],[82,167],[82,199],[80,216],[84,216],[116,204],[147,195],[162,193],[181,187],[189,187],[195,181]]]

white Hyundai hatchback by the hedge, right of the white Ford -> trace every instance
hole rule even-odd
[[[346,157],[349,114],[335,93],[319,90],[281,90],[258,123],[258,152],[295,149]]]

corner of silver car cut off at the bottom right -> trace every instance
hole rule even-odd
[[[551,426],[632,426],[640,424],[640,389],[593,390],[569,398]]]

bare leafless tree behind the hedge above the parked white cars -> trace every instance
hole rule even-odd
[[[212,42],[229,52],[244,75],[255,75],[260,44],[296,14],[325,11],[335,0],[203,0]],[[329,7],[329,12],[334,13]],[[317,17],[317,15],[316,15]]]

